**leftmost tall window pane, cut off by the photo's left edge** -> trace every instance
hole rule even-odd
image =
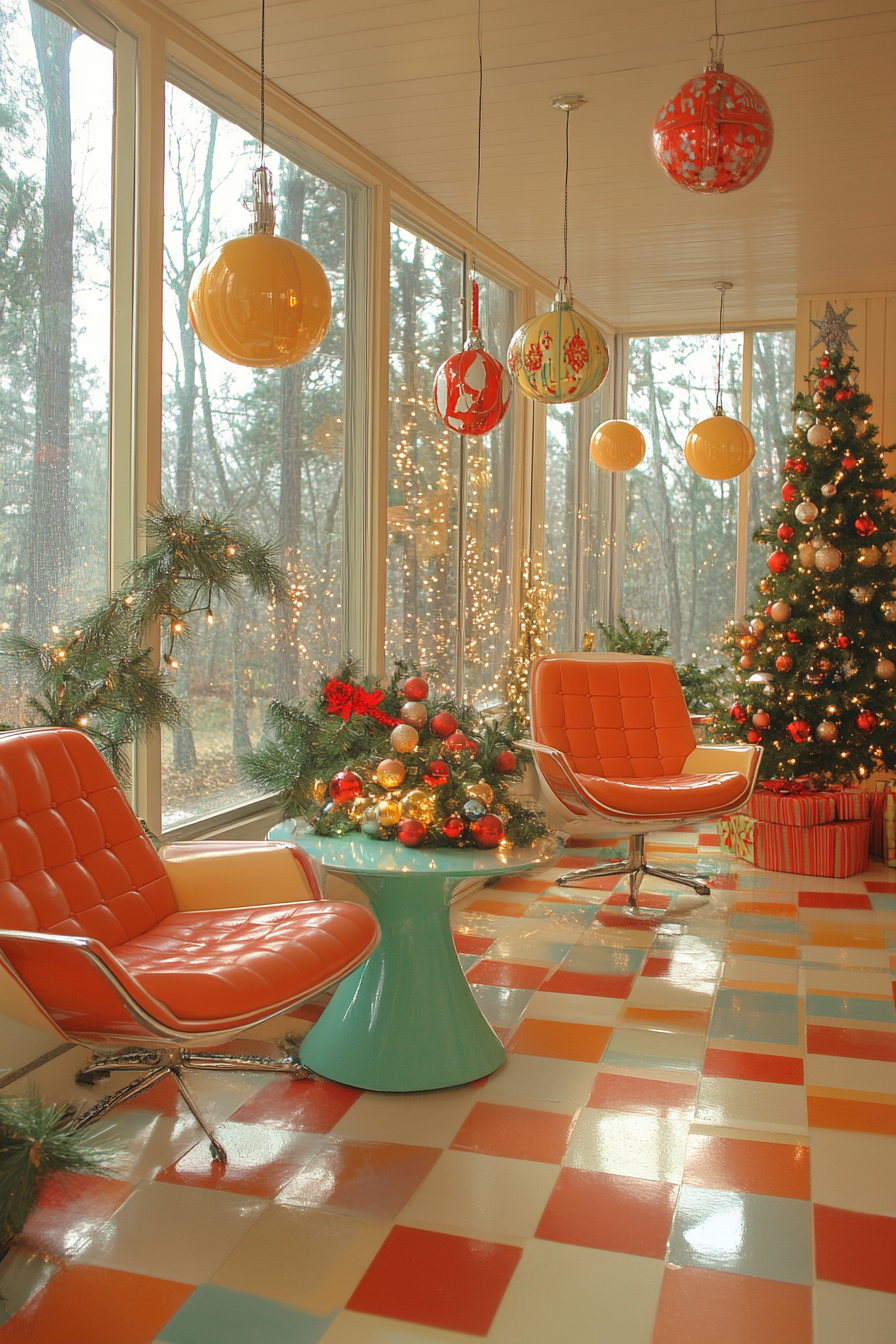
[[[111,51],[4,4],[0,122],[0,628],[43,641],[109,578]]]

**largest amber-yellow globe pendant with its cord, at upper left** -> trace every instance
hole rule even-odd
[[[330,288],[316,257],[274,234],[265,167],[265,0],[262,0],[261,167],[253,173],[254,222],[200,261],[189,282],[196,336],[231,364],[286,368],[317,349],[329,328]]]

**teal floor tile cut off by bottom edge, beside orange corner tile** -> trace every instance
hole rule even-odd
[[[156,1344],[317,1344],[334,1316],[308,1316],[267,1297],[201,1284]]]

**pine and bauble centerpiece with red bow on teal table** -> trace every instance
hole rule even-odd
[[[242,765],[277,792],[286,817],[321,836],[493,849],[547,832],[513,792],[523,763],[497,720],[430,700],[411,663],[398,661],[380,685],[348,659],[304,703],[275,700],[265,741]]]

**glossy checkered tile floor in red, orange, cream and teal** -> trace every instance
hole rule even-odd
[[[454,907],[489,1079],[200,1075],[223,1173],[173,1087],[113,1113],[120,1171],[50,1188],[0,1266],[0,1344],[893,1344],[896,871],[657,840],[712,876],[680,923],[557,871]]]

